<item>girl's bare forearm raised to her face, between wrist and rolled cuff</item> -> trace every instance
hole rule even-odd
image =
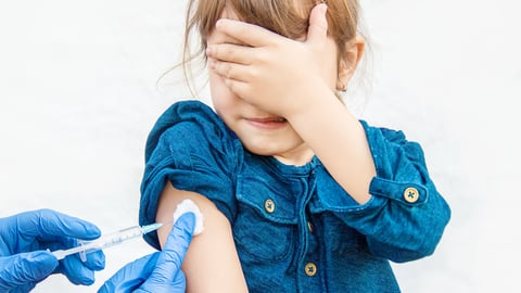
[[[320,101],[288,120],[334,180],[364,204],[371,198],[369,183],[377,175],[366,132],[334,94],[329,95],[317,95]]]

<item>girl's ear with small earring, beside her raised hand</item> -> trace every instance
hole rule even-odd
[[[355,74],[358,62],[364,54],[365,46],[366,41],[361,36],[354,37],[345,44],[345,51],[340,55],[336,90],[346,90],[347,82]]]

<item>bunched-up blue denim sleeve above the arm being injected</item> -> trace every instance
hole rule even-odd
[[[229,140],[218,137],[224,129],[212,124],[208,113],[199,104],[179,103],[152,130],[141,182],[140,225],[155,221],[168,181],[177,189],[205,195],[230,221],[233,219],[236,200],[228,168],[233,162],[232,146]],[[160,249],[155,232],[145,234],[144,240]]]

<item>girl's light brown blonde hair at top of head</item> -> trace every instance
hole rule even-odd
[[[297,2],[298,1],[298,2]],[[225,8],[233,10],[241,21],[265,27],[288,38],[306,36],[310,10],[323,1],[317,0],[189,0],[186,17],[185,47],[181,64],[185,80],[191,86],[191,63],[206,64],[207,38]],[[346,43],[357,35],[359,7],[357,0],[328,0],[328,35],[344,53]],[[199,40],[192,39],[198,33]],[[192,44],[198,43],[198,48]]]

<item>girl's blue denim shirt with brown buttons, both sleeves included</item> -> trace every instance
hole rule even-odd
[[[140,225],[154,222],[169,180],[228,217],[251,292],[399,292],[389,260],[432,254],[450,209],[418,143],[360,123],[377,168],[363,205],[317,157],[296,167],[250,153],[212,109],[178,102],[147,142]],[[160,249],[155,233],[145,240]]]

